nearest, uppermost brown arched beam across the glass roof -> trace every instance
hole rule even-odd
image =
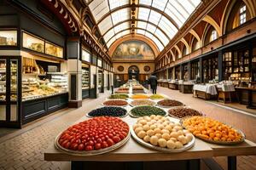
[[[155,12],[165,16],[166,19],[170,20],[170,22],[172,22],[173,26],[175,26],[177,28],[177,30],[179,29],[179,27],[177,26],[177,23],[175,22],[175,20],[173,20],[171,16],[169,16],[168,14],[166,14],[165,12],[161,11],[158,8],[154,8],[152,6],[148,6],[148,5],[144,5],[144,4],[135,4],[135,5],[132,5],[132,7],[149,8],[151,10],[154,10]],[[102,20],[106,19],[108,17],[108,15],[113,14],[114,12],[116,12],[116,11],[122,9],[122,8],[131,8],[131,4],[123,5],[123,6],[120,6],[118,8],[113,8],[107,14],[104,14],[100,20],[98,20],[97,25],[99,25],[102,22]]]

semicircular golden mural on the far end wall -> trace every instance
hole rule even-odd
[[[154,51],[139,40],[129,40],[119,44],[113,52],[114,59],[154,59]]]

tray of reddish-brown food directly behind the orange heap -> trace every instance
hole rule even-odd
[[[185,116],[203,116],[201,112],[188,107],[172,108],[168,111],[168,113],[170,116],[174,116],[177,118],[183,118]]]

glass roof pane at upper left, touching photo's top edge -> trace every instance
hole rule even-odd
[[[98,22],[104,14],[109,12],[108,0],[92,1],[89,8],[96,22]]]

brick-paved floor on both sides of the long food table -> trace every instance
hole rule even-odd
[[[240,128],[247,135],[247,139],[256,142],[256,118],[242,115],[235,111],[226,110],[212,105],[203,99],[192,98],[192,94],[180,94],[178,91],[168,88],[158,88],[158,93],[166,94],[173,99],[182,100],[186,105],[204,112],[207,116],[226,122]],[[44,150],[52,144],[55,136],[68,126],[84,116],[84,113],[96,108],[106,99],[108,94],[102,94],[99,99],[86,99],[83,107],[79,109],[67,109],[48,116],[41,121],[32,123],[23,129],[0,138],[0,170],[2,169],[69,169],[69,162],[44,161]],[[3,130],[0,128],[0,131]],[[224,169],[226,161],[224,157],[216,160]],[[239,156],[238,169],[256,169],[256,156]],[[206,167],[203,169],[207,169]]]

